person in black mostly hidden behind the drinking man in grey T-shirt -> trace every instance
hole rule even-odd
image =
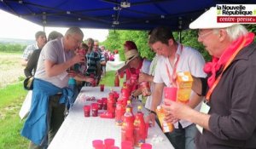
[[[50,32],[48,36],[48,42],[54,40],[58,37],[63,37],[60,32]],[[26,68],[24,69],[24,73],[26,77],[33,76],[37,70],[38,66],[38,58],[42,49],[36,49],[32,52],[30,59],[27,61]]]

